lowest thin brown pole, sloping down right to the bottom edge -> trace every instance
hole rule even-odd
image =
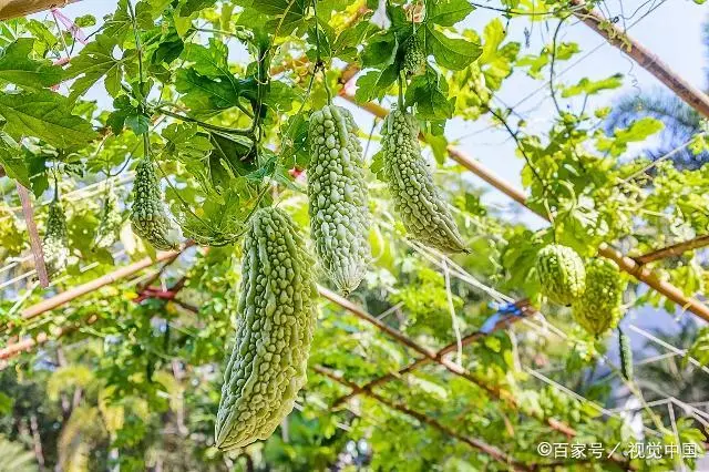
[[[323,367],[320,366],[314,366],[312,369],[318,372],[321,376],[327,377],[330,380],[333,380],[335,382],[343,386],[343,387],[348,387],[350,389],[357,388],[356,383],[350,382],[349,380],[342,378],[341,376],[335,373],[333,371],[331,371],[330,369],[326,369]],[[364,394],[367,397],[370,397],[373,400],[377,400],[378,402],[389,407],[392,410],[397,410],[401,413],[404,413],[409,417],[414,418],[415,420],[418,420],[420,423],[422,424],[427,424],[435,430],[439,430],[440,432],[442,432],[443,434],[454,438],[467,445],[470,445],[471,448],[486,454],[490,455],[492,459],[494,459],[497,462],[501,462],[505,465],[508,465],[511,468],[511,470],[514,471],[533,471],[534,468],[531,468],[515,459],[513,459],[512,456],[510,456],[508,454],[506,454],[505,452],[501,451],[497,448],[494,448],[490,444],[487,444],[484,441],[481,441],[479,439],[475,438],[467,438],[464,437],[462,434],[456,433],[455,431],[453,431],[452,429],[441,424],[440,422],[438,422],[436,420],[434,420],[433,418],[430,418],[423,413],[420,413],[415,410],[412,410],[409,407],[405,407],[403,404],[399,404],[399,403],[394,403],[391,400],[388,400],[374,392],[368,391],[364,392]]]

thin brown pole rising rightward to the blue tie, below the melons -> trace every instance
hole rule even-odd
[[[528,301],[524,300],[520,304],[517,304],[517,307],[522,310],[522,315],[517,316],[517,315],[508,315],[504,318],[502,318],[500,321],[497,321],[495,324],[495,326],[493,327],[492,330],[490,330],[490,332],[482,332],[482,331],[475,331],[472,335],[467,335],[464,338],[461,339],[461,345],[467,346],[471,345],[473,342],[479,341],[480,339],[489,336],[492,332],[495,331],[500,331],[503,329],[506,329],[510,325],[520,321],[522,318],[527,317],[536,311],[534,311]],[[443,356],[453,352],[455,349],[458,349],[458,342],[451,342],[450,345],[445,346],[444,348],[440,349],[436,353],[435,353],[435,358],[436,359],[442,359]],[[361,387],[357,387],[353,388],[351,392],[338,398],[337,400],[335,400],[332,402],[332,408],[336,408],[342,403],[345,403],[346,401],[350,400],[351,398],[357,397],[360,393],[367,392],[367,391],[371,391],[374,387],[379,387],[382,386],[384,383],[391,382],[394,379],[399,379],[403,376],[405,376],[407,373],[410,373],[412,371],[414,371],[415,369],[427,366],[429,363],[433,362],[430,358],[428,357],[421,357],[417,360],[414,360],[412,363],[410,363],[407,367],[403,367],[401,369],[399,369],[399,371],[397,372],[389,372],[386,373],[381,377],[378,377],[373,380],[370,380],[369,382],[367,382],[366,384],[361,386]]]

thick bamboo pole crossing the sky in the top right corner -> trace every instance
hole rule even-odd
[[[706,93],[682,79],[649,49],[630,38],[617,25],[604,19],[597,11],[584,8],[586,4],[584,0],[572,0],[572,4],[582,7],[573,10],[576,18],[637,62],[643,69],[655,75],[657,80],[667,85],[685,103],[697,110],[705,117],[709,117],[709,96]]]

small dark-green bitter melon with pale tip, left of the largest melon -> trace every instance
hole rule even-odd
[[[150,158],[142,158],[135,167],[131,227],[155,249],[179,247],[182,232],[165,211],[155,166]]]

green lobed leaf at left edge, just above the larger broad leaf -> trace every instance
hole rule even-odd
[[[61,68],[48,61],[29,59],[33,48],[32,38],[20,38],[8,45],[0,55],[0,81],[29,90],[58,84],[62,78]]]

